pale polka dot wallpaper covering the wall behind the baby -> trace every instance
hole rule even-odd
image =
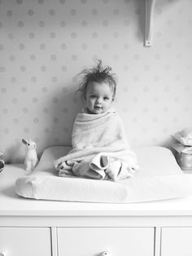
[[[143,47],[142,0],[0,0],[0,150],[23,161],[22,138],[71,143],[81,109],[76,74],[94,59],[118,77],[115,106],[131,145],[165,145],[192,127],[192,1],[157,0]]]

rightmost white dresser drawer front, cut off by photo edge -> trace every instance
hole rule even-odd
[[[161,256],[192,255],[192,227],[163,227]]]

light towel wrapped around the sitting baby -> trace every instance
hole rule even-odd
[[[137,159],[115,110],[79,113],[72,130],[72,150],[55,161],[59,176],[120,180],[133,176]]]

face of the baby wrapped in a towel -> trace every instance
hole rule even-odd
[[[107,112],[111,107],[113,91],[106,82],[91,82],[87,86],[85,107],[91,114]]]

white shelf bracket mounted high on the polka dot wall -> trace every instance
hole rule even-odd
[[[156,0],[146,0],[146,26],[144,46],[152,46],[153,16]]]

